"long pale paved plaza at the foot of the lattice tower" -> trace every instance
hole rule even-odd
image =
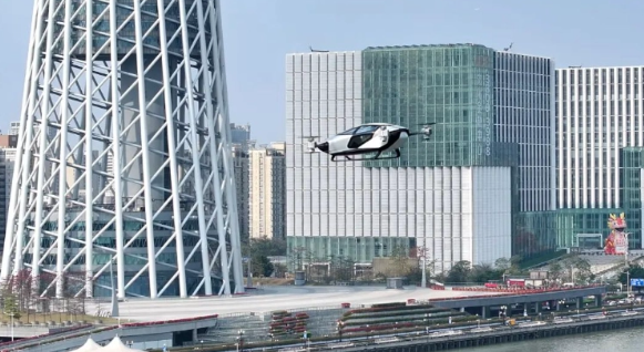
[[[427,300],[437,298],[472,297],[491,292],[438,291],[417,287],[402,290],[372,287],[295,287],[273,286],[252,290],[249,294],[235,297],[208,297],[188,299],[126,299],[119,304],[120,318],[129,321],[160,321],[195,318],[208,314],[234,314],[270,312],[288,309],[338,308],[340,303],[375,304],[406,302],[408,299]],[[499,293],[502,294],[502,293]],[[109,304],[102,304],[103,310]]]

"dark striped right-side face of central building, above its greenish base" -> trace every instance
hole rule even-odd
[[[554,210],[554,62],[497,52],[494,75],[494,136],[518,147],[518,210]]]

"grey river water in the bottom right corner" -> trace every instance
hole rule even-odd
[[[611,330],[562,338],[462,349],[468,352],[641,352],[644,328]]]

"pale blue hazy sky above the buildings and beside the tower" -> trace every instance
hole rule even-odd
[[[285,55],[479,43],[568,65],[644,64],[641,0],[221,0],[231,120],[285,138]],[[0,4],[0,128],[19,120],[33,1]]]

